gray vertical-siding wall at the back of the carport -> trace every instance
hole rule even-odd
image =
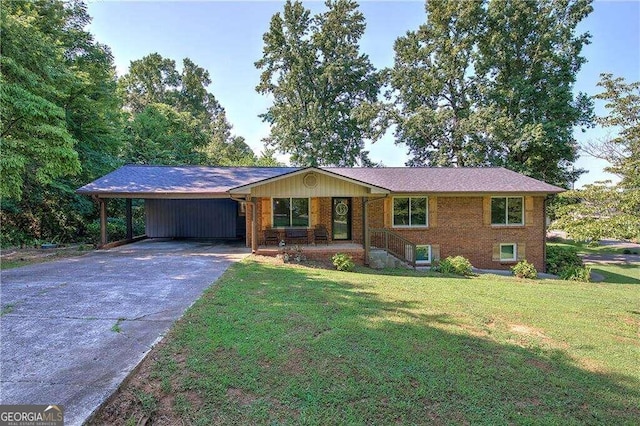
[[[218,200],[145,200],[151,238],[236,238],[238,203]],[[244,218],[243,218],[244,219]]]

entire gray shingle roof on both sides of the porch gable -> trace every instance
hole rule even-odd
[[[557,186],[504,168],[322,168],[336,175],[405,193],[545,193]],[[102,196],[228,196],[228,191],[299,170],[295,167],[123,166],[78,189]]]

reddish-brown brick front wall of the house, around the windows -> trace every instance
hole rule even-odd
[[[389,197],[390,198],[390,197]],[[388,228],[402,235],[416,244],[439,245],[440,258],[462,255],[469,259],[473,266],[481,269],[509,269],[515,262],[500,262],[493,260],[493,248],[496,244],[515,243],[524,247],[524,257],[533,263],[540,272],[544,271],[544,197],[531,197],[532,209],[526,211],[525,225],[523,226],[491,226],[485,225],[483,197],[430,197],[430,203],[437,208],[435,214],[433,206],[429,206],[430,217],[428,228],[393,228],[390,227],[390,219],[385,220],[385,215],[391,215],[385,209],[383,199],[372,201],[368,205],[369,228]],[[435,201],[433,201],[435,199]],[[386,203],[389,203],[388,201]],[[262,244],[262,211],[261,201],[258,200],[257,221],[260,232],[258,244]],[[363,243],[362,227],[362,198],[351,199],[352,208],[352,242]],[[325,225],[331,237],[331,198],[319,199],[318,220]],[[386,226],[385,226],[386,222]],[[251,205],[247,205],[247,245],[251,245]],[[312,235],[312,234],[311,234]],[[318,252],[322,258],[330,257],[324,252]],[[333,252],[331,252],[333,253]],[[361,262],[362,259],[356,259]]]

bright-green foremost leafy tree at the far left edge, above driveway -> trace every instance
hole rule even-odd
[[[2,198],[20,200],[28,176],[48,184],[80,171],[65,120],[65,93],[76,80],[59,43],[65,15],[53,0],[2,3]]]

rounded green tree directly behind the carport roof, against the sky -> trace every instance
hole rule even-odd
[[[244,139],[231,134],[224,108],[207,90],[209,72],[185,58],[153,53],[132,61],[119,81],[130,117],[123,158],[139,164],[255,162]],[[242,154],[239,154],[239,152]]]

